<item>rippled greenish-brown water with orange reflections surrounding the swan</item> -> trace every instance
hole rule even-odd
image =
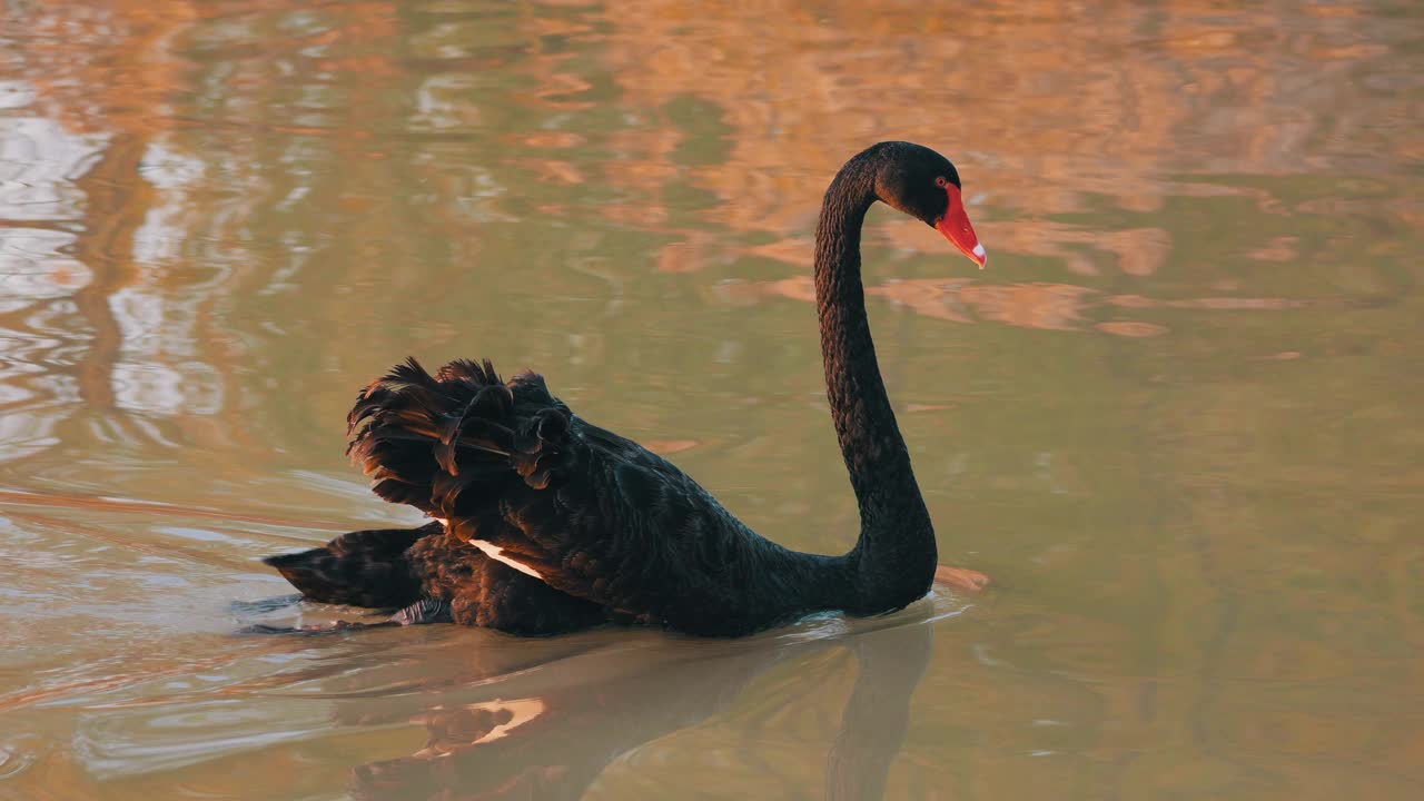
[[[0,798],[1418,798],[1424,14],[629,1],[0,11]],[[255,560],[414,515],[345,463],[416,353],[544,372],[844,549],[820,192],[946,562],[739,641],[282,639]],[[441,792],[447,795],[440,795]]]

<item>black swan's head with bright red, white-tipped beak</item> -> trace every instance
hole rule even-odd
[[[876,197],[938,231],[984,269],[988,254],[964,210],[960,172],[948,158],[913,143],[880,143],[866,150]]]

